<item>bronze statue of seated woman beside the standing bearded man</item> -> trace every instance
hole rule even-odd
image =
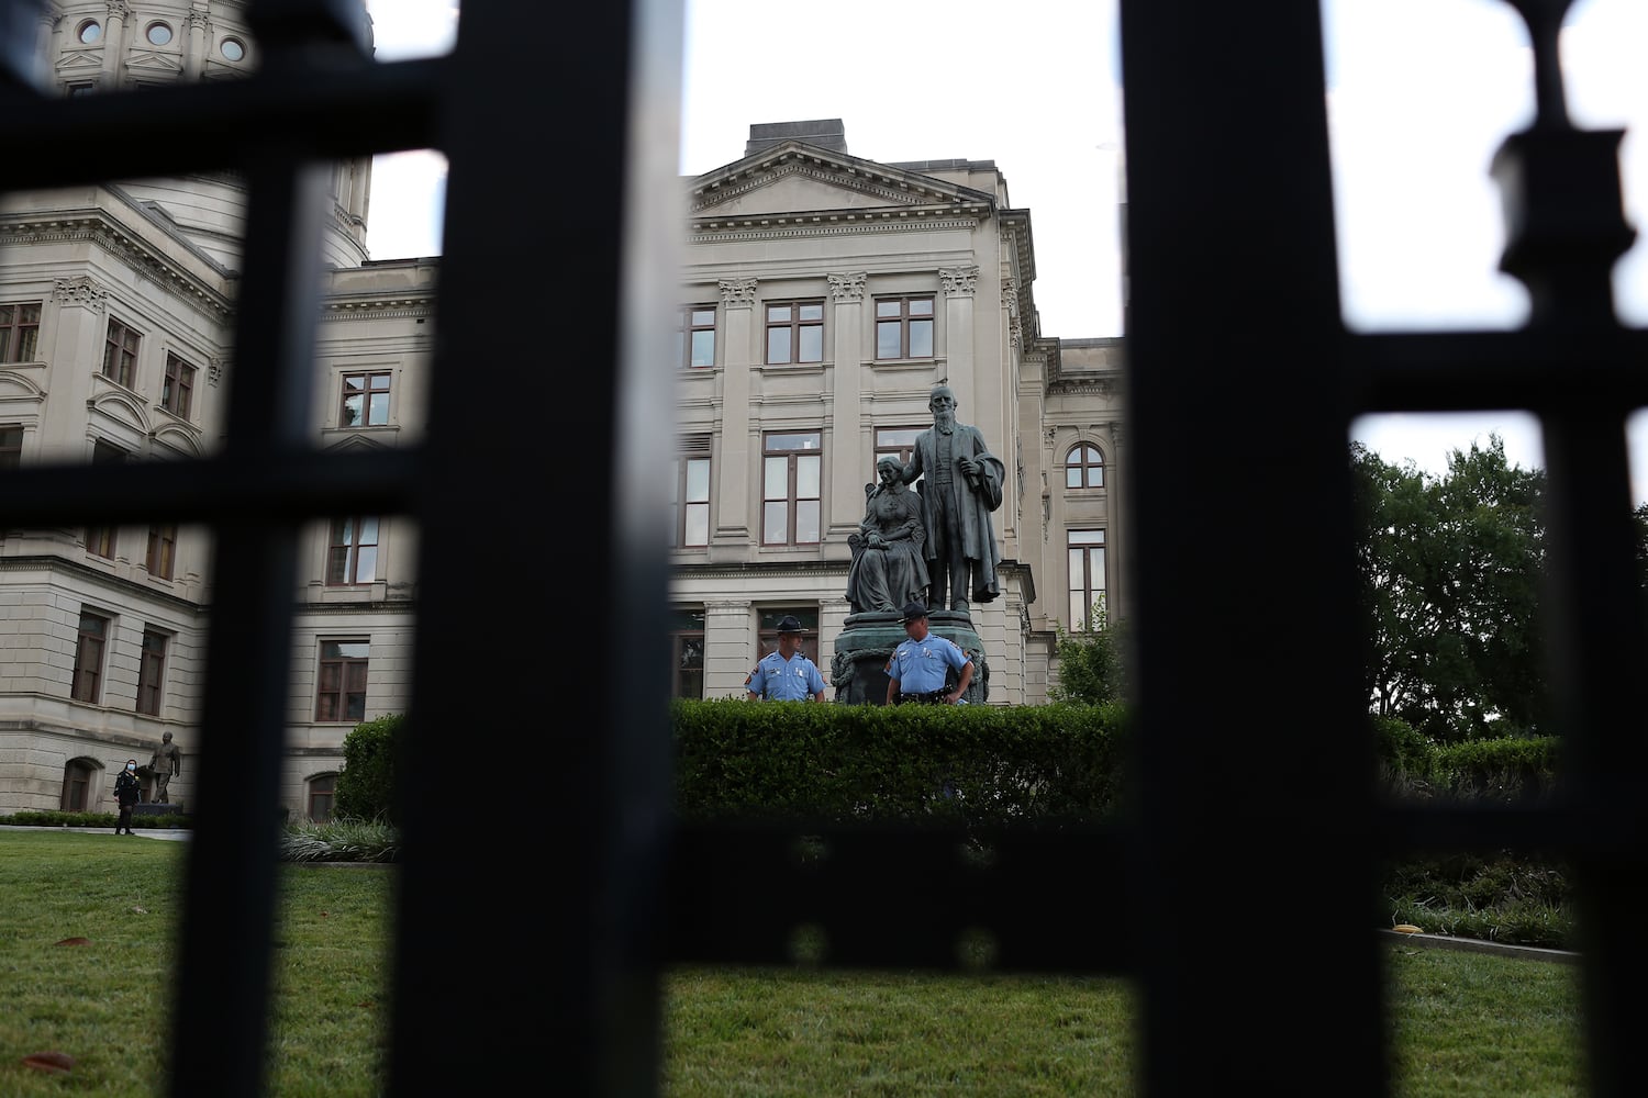
[[[897,612],[906,603],[926,601],[921,497],[905,484],[898,458],[877,461],[875,476],[880,484],[868,489],[859,533],[847,538],[852,547],[847,601],[855,614]]]

